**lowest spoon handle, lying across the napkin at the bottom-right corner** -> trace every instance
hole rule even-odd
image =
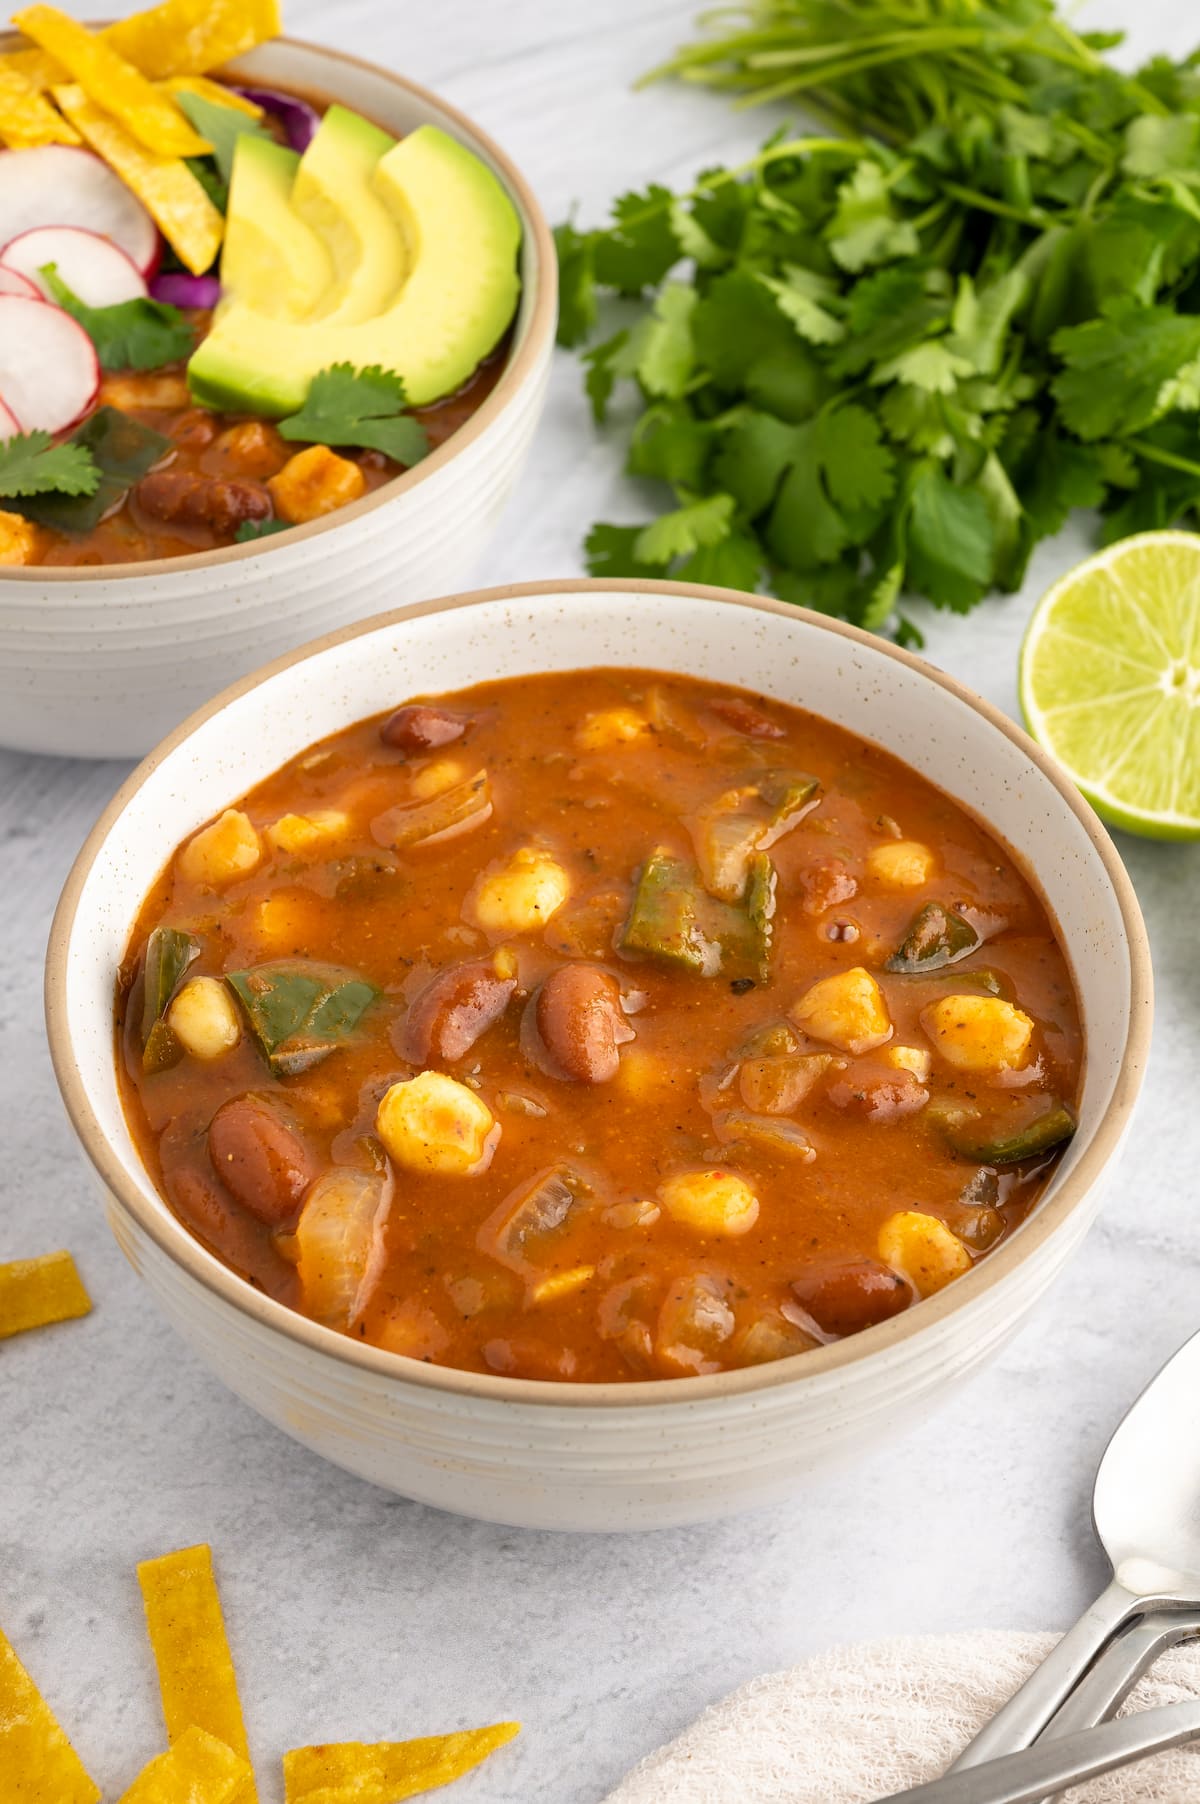
[[[1085,1728],[1061,1741],[1039,1741],[1036,1748],[1005,1759],[946,1773],[928,1786],[895,1791],[879,1804],[1038,1804],[1048,1791],[1065,1791],[1085,1779],[1097,1779],[1117,1766],[1142,1761],[1149,1753],[1178,1748],[1200,1735],[1200,1703],[1168,1703],[1157,1710],[1124,1716],[1119,1723]]]

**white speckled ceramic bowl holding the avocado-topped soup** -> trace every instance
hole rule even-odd
[[[491,164],[523,226],[507,368],[413,471],[287,538],[157,563],[0,568],[0,745],[141,754],[263,658],[381,601],[402,606],[467,581],[541,415],[558,318],[554,242],[503,152],[433,94],[337,51],[276,38],[229,67],[245,81],[341,101],[395,133],[438,124]]]

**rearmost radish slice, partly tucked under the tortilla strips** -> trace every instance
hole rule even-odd
[[[112,238],[143,276],[159,267],[159,227],[90,150],[38,144],[0,153],[0,245],[34,226],[81,226]]]

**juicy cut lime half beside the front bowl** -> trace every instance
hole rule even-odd
[[[1101,819],[1200,837],[1200,534],[1142,532],[1056,583],[1020,682],[1029,731]]]

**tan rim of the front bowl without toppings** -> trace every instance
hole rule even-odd
[[[254,1290],[247,1279],[222,1265],[215,1254],[211,1254],[193,1234],[189,1234],[162,1196],[155,1194],[152,1203],[141,1194],[137,1185],[126,1174],[125,1162],[105,1137],[99,1118],[92,1108],[88,1086],[81,1077],[74,1057],[67,1014],[67,969],[69,947],[83,886],[92,871],[92,866],[103,853],[108,833],[128,803],[143,788],[152,772],[179,752],[193,732],[197,732],[231,702],[236,702],[251,691],[262,687],[278,673],[291,669],[296,664],[319,658],[332,648],[361,639],[366,633],[377,633],[390,628],[402,630],[408,622],[420,621],[433,613],[469,610],[485,603],[520,603],[540,595],[586,597],[588,594],[682,595],[695,599],[698,604],[720,603],[724,606],[774,613],[783,621],[803,622],[817,631],[834,633],[835,637],[848,640],[852,646],[870,648],[873,653],[906,666],[935,687],[965,704],[973,713],[982,714],[991,727],[1002,732],[1030,759],[1032,765],[1036,765],[1038,772],[1066,803],[1068,810],[1090,839],[1115,891],[1130,949],[1130,1028],[1121,1054],[1121,1066],[1117,1070],[1112,1100],[1077,1164],[1068,1171],[1057,1191],[1045,1198],[1034,1214],[1021,1223],[1018,1234],[998,1247],[996,1252],[989,1254],[989,1257],[980,1265],[973,1266],[971,1272],[965,1272],[937,1295],[926,1297],[918,1308],[904,1310],[902,1315],[895,1315],[891,1321],[881,1322],[875,1328],[866,1328],[857,1335],[846,1337],[845,1340],[814,1348],[812,1351],[807,1351],[803,1358],[785,1358],[769,1366],[740,1367],[697,1378],[646,1378],[630,1382],[574,1384],[570,1380],[558,1378],[511,1378],[493,1373],[464,1371],[453,1366],[428,1366],[420,1360],[410,1360],[402,1353],[390,1353],[383,1348],[352,1340],[348,1335],[341,1335],[332,1328],[323,1328],[307,1315],[301,1315],[300,1312],[276,1302],[272,1297],[267,1297],[263,1292]],[[947,794],[953,792],[947,790]],[[900,646],[879,639],[875,633],[868,633],[863,628],[848,626],[843,621],[834,621],[828,615],[812,612],[810,608],[798,608],[790,603],[774,601],[767,595],[747,595],[709,584],[671,581],[641,583],[630,579],[603,581],[568,577],[558,583],[512,583],[496,588],[446,595],[435,601],[417,603],[415,606],[388,610],[368,621],[359,621],[354,626],[325,633],[323,637],[310,640],[307,646],[300,646],[296,651],[274,658],[271,664],[265,664],[262,669],[240,678],[227,689],[222,689],[220,695],[175,727],[175,731],[170,732],[137,765],[99,815],[63,886],[63,893],[51,924],[45,963],[45,1023],[51,1063],[63,1095],[67,1115],[70,1117],[74,1131],[79,1137],[79,1144],[83,1146],[83,1151],[92,1162],[103,1185],[119,1201],[119,1205],[132,1214],[137,1227],[155,1243],[155,1247],[173,1265],[180,1266],[186,1277],[215,1293],[218,1302],[231,1304],[258,1326],[267,1331],[282,1333],[287,1340],[300,1344],[310,1353],[327,1358],[332,1357],[352,1371],[357,1369],[361,1373],[370,1373],[375,1378],[392,1378],[393,1382],[415,1385],[426,1393],[446,1393],[478,1405],[532,1404],[567,1409],[646,1409],[664,1404],[711,1404],[751,1393],[772,1391],[778,1385],[832,1378],[843,1373],[848,1366],[870,1360],[877,1355],[899,1351],[913,1335],[942,1326],[958,1310],[969,1308],[996,1284],[1003,1283],[1020,1265],[1032,1257],[1083,1203],[1086,1192],[1099,1180],[1104,1165],[1115,1153],[1128,1126],[1133,1104],[1137,1102],[1149,1050],[1151,1019],[1153,976],[1149,942],[1137,895],[1124,864],[1121,862],[1121,855],[1117,853],[1117,848],[1099,817],[1092,812],[1066,772],[1047,752],[1043,752],[1041,747],[1016,725],[1016,722],[965,684],[958,682],[955,676],[949,676],[946,671],[926,662],[924,658],[918,658],[913,653],[904,651]]]

